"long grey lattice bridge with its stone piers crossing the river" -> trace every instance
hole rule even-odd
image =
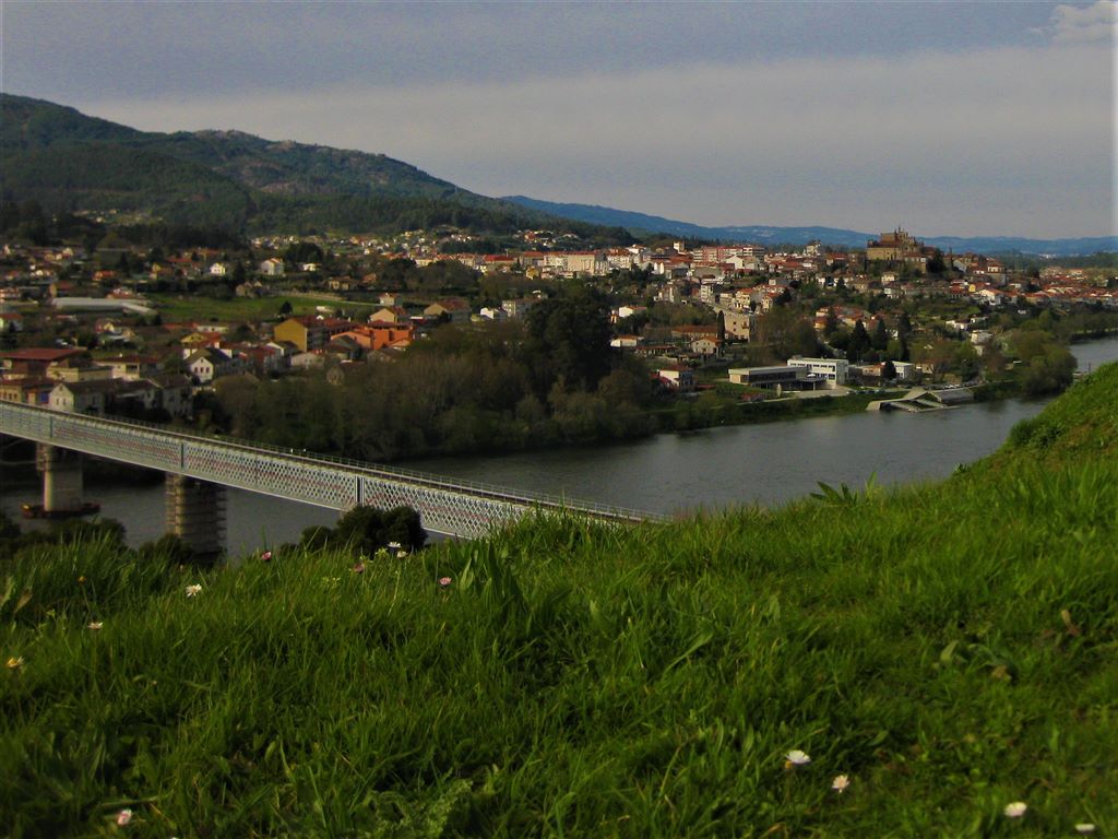
[[[48,513],[80,509],[80,454],[164,472],[168,532],[199,553],[225,548],[228,487],[339,511],[359,505],[407,506],[419,512],[428,530],[465,538],[537,510],[614,524],[656,518],[558,496],[9,402],[0,402],[0,434],[39,444],[42,506]]]

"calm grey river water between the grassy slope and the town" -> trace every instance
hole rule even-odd
[[[1118,337],[1074,345],[1082,370],[1118,360]],[[500,458],[440,458],[409,469],[490,484],[561,493],[572,500],[673,513],[733,505],[779,505],[819,482],[860,488],[935,480],[996,450],[1043,400],[1007,399],[923,414],[903,412],[813,417],[659,434],[612,445],[523,452]],[[18,518],[38,500],[36,483],[0,487],[0,509]],[[121,521],[130,545],[163,532],[163,487],[96,486],[86,497]],[[241,554],[294,541],[306,527],[331,526],[331,510],[230,490],[228,548]],[[40,522],[31,522],[38,525]]]

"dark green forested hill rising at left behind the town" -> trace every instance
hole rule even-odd
[[[470,192],[383,154],[275,142],[239,131],[144,132],[72,107],[0,94],[4,200],[122,210],[248,230],[618,230]]]

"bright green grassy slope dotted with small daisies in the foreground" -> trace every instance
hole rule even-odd
[[[1034,421],[1058,428],[1046,460],[1022,433],[936,486],[525,521],[360,574],[340,554],[208,573],[106,545],[20,556],[0,587],[0,821],[1114,835],[1116,417],[1111,365]]]

